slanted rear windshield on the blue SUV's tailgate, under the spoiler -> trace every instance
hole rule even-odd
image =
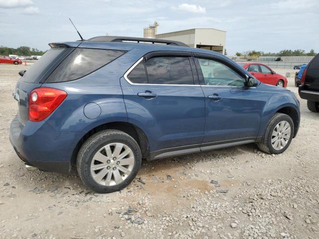
[[[55,59],[65,50],[64,47],[51,48],[48,50],[39,60],[37,60],[31,67],[28,69],[20,81],[34,83],[37,82],[39,76],[51,65]]]

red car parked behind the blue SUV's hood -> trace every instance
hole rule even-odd
[[[241,62],[238,64],[254,77],[256,77],[259,81],[265,84],[287,87],[287,78],[283,75],[277,74],[265,64],[254,62]]]

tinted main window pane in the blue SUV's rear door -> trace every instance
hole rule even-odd
[[[194,85],[188,57],[159,56],[145,64],[150,84]]]

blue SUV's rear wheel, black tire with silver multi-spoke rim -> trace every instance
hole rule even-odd
[[[123,144],[123,148],[119,146],[122,151],[120,150],[119,153],[116,153],[115,149],[118,147],[118,144]],[[110,157],[107,157],[107,151],[104,147],[107,147],[108,150],[110,150],[108,151]],[[130,150],[126,151],[127,149]],[[129,152],[129,154],[128,156],[125,156],[125,158],[120,160],[120,157],[116,158],[115,155],[121,156],[121,152]],[[103,153],[104,155],[102,155],[101,153]],[[123,160],[129,159],[130,161],[132,161],[132,157],[134,157],[134,162],[131,162],[131,165],[126,165],[125,163],[123,164]],[[101,163],[102,166],[106,166],[103,169],[97,169],[94,171],[94,169],[96,168],[95,166],[100,165],[96,164],[96,162],[100,162],[99,160],[96,160],[96,158],[99,158],[102,161],[104,160],[105,163],[102,163],[102,161]],[[83,143],[77,156],[76,166],[81,180],[88,188],[98,193],[112,193],[125,188],[132,182],[141,167],[141,162],[141,149],[134,138],[123,131],[116,129],[107,129],[93,134]],[[124,173],[124,171],[121,171],[126,166],[126,170],[131,171],[128,174]],[[93,169],[92,167],[95,168]],[[115,170],[114,168],[117,167],[119,169]],[[120,167],[122,169],[120,169]],[[106,171],[107,173],[105,173]],[[101,174],[99,175],[99,173]],[[101,175],[103,175],[104,173],[106,175],[100,179]],[[111,175],[110,178],[108,177],[109,175]],[[118,175],[121,176],[120,180]],[[118,180],[116,180],[116,178]]]

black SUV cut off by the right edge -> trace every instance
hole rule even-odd
[[[319,54],[305,68],[298,91],[299,96],[307,100],[308,109],[319,112]]]

